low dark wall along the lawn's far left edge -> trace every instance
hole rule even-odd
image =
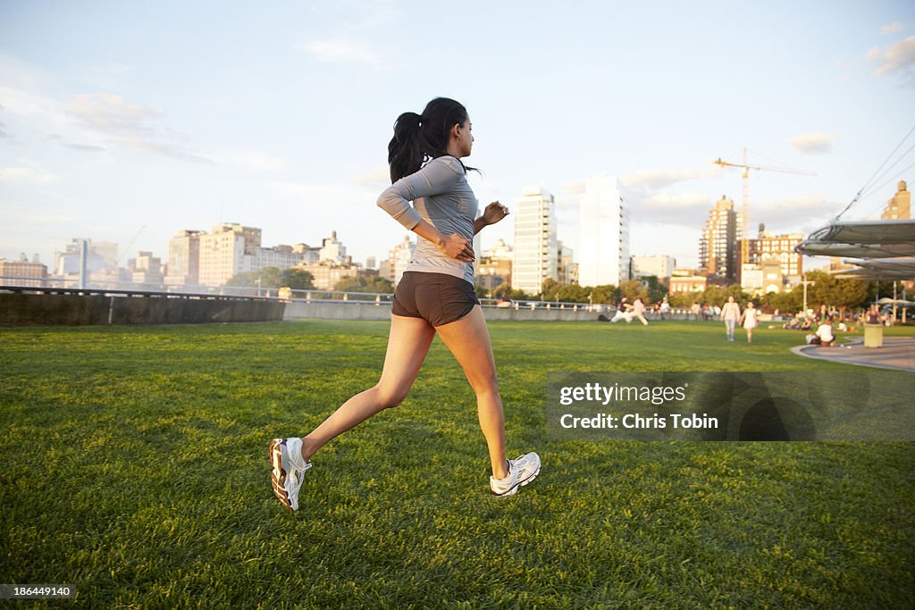
[[[0,294],[0,326],[202,324],[282,320],[278,301],[82,294]]]

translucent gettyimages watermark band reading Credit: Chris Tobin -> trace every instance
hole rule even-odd
[[[556,441],[912,441],[909,372],[553,372]]]

